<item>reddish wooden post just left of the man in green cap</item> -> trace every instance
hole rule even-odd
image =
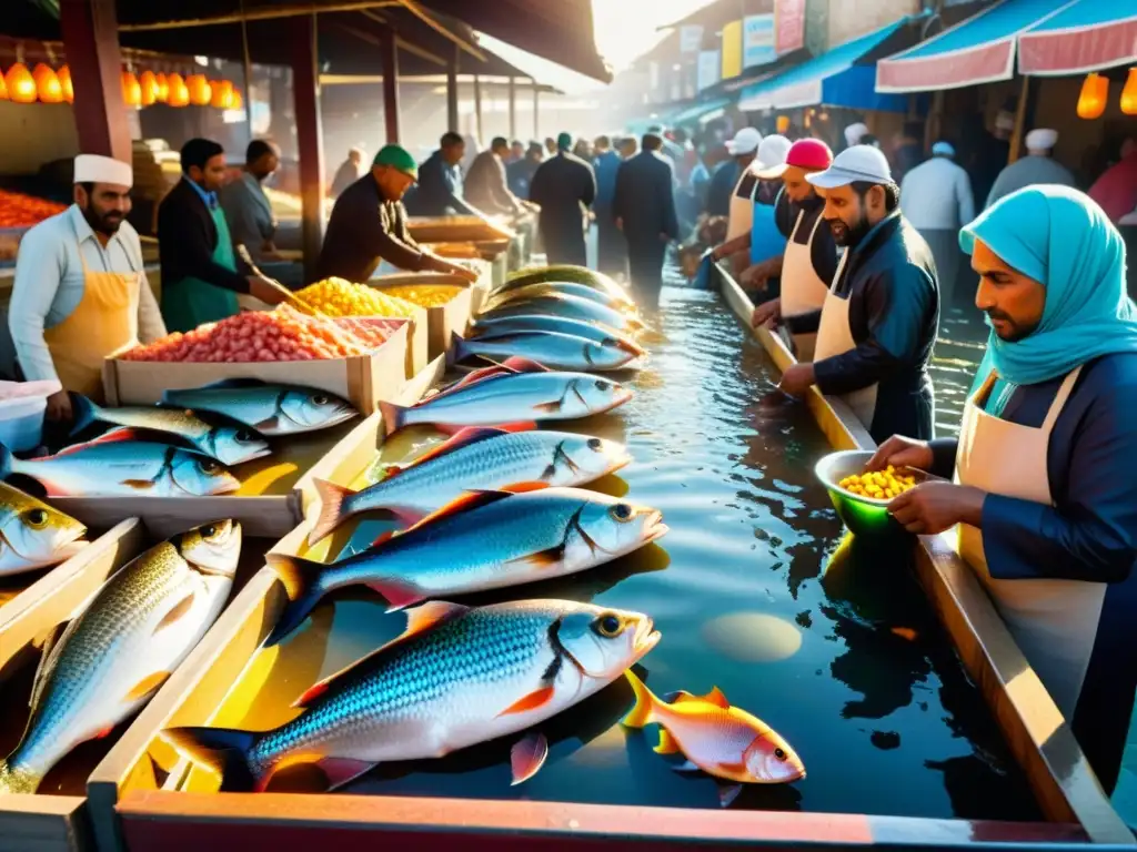
[[[300,157],[302,249],[306,281],[315,281],[324,241],[324,145],[319,125],[319,70],[316,67],[316,16],[292,18],[292,97],[296,100],[297,147]]]

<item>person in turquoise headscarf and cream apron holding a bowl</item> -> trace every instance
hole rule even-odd
[[[1112,791],[1137,688],[1137,307],[1124,244],[1088,197],[1056,185],[1007,195],[960,244],[991,327],[960,437],[893,437],[871,467],[953,478],[888,509],[913,533],[960,525],[960,554]]]

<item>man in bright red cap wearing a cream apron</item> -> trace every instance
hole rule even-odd
[[[781,278],[781,295],[754,309],[753,324],[782,331],[799,361],[813,360],[821,308],[837,274],[837,245],[823,222],[825,202],[806,181],[833,161],[829,145],[818,139],[800,139],[786,154],[786,162],[758,174],[782,181],[775,204],[778,229],[788,237],[774,275]]]

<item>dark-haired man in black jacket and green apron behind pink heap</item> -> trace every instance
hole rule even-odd
[[[239,310],[248,293],[268,304],[284,296],[233,250],[217,190],[225,183],[225,151],[208,139],[182,145],[182,179],[158,207],[161,316],[171,332],[190,332]]]

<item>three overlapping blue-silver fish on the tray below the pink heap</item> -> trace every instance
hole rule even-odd
[[[236,491],[233,466],[272,453],[268,438],[335,426],[358,412],[308,387],[226,379],[166,391],[158,406],[105,408],[73,394],[72,437],[53,456],[17,459],[0,445],[0,477],[35,479],[48,496],[207,496]]]

